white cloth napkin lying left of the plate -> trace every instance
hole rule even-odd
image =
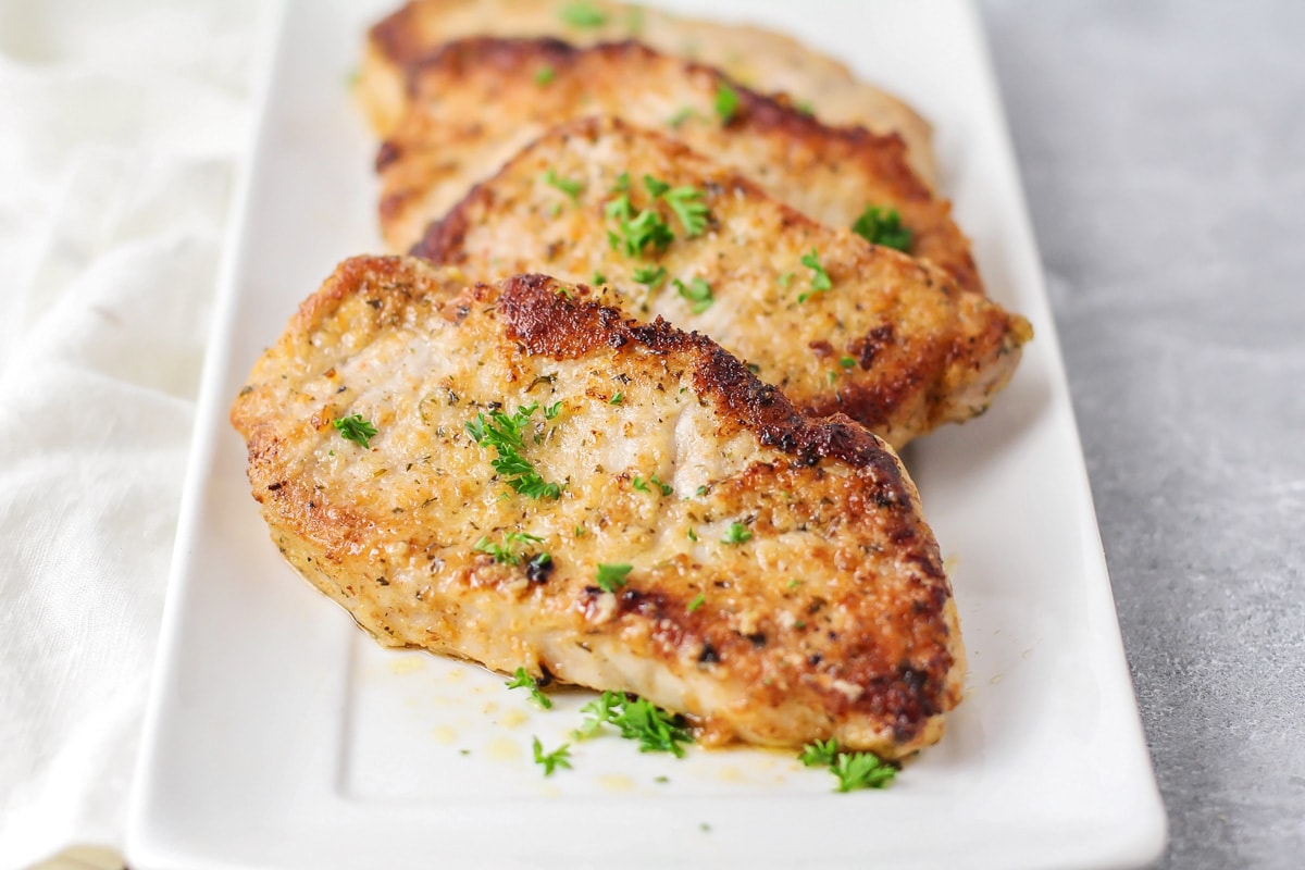
[[[120,848],[256,0],[0,0],[0,870]]]

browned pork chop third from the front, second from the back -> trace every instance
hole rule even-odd
[[[539,83],[547,69],[551,78]],[[471,184],[548,128],[592,115],[662,129],[831,227],[867,206],[895,209],[910,253],[981,291],[951,207],[911,171],[897,136],[834,128],[731,83],[718,70],[637,43],[573,48],[553,39],[466,39],[414,68],[414,99],[381,146],[380,218],[395,252],[411,248]],[[735,102],[724,116],[718,98]],[[675,124],[672,125],[672,121]]]

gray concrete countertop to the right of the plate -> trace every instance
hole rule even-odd
[[[1171,823],[1305,866],[1305,4],[983,0]]]

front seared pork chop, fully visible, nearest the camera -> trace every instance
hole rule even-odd
[[[600,291],[457,283],[346,261],[236,399],[254,498],[304,577],[385,644],[634,691],[718,736],[891,758],[938,738],[963,651],[890,447]],[[495,411],[544,489],[491,464]],[[333,425],[351,415],[367,446]]]

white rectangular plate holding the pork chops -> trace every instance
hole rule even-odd
[[[365,5],[365,4],[364,4]],[[129,823],[137,870],[1131,867],[1164,844],[1036,248],[981,27],[959,1],[680,3],[787,30],[937,128],[992,293],[1037,330],[990,413],[907,453],[970,650],[947,736],[883,792],[791,755],[548,747],[581,717],[478,668],[388,652],[298,579],[227,407],[337,261],[378,249],[375,143],[346,81],[384,8],[296,3],[270,74],[201,395]],[[662,781],[666,779],[667,781]]]

